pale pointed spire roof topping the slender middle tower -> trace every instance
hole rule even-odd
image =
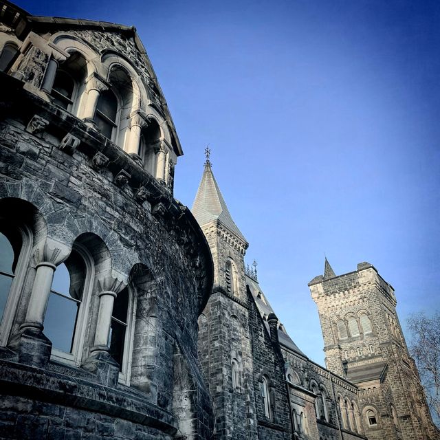
[[[203,170],[194,203],[192,203],[191,212],[199,225],[206,225],[206,223],[210,223],[210,221],[218,220],[222,225],[247,243],[245,237],[234,223],[234,220],[232,220],[228,206],[226,206],[217,181],[212,174],[209,160],[205,163],[205,169]]]

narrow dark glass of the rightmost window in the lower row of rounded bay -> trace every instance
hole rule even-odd
[[[119,292],[113,304],[110,329],[110,354],[118,362],[122,371],[122,360],[124,359],[125,333],[127,327],[127,316],[129,314],[129,289],[125,288]]]

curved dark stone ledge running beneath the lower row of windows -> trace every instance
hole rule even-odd
[[[0,392],[3,395],[61,404],[126,419],[144,426],[177,432],[173,414],[131,393],[131,388],[109,388],[78,377],[0,361]]]

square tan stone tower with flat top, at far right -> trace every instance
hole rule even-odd
[[[336,276],[325,259],[324,276],[310,283],[318,306],[327,368],[360,388],[369,440],[438,439],[414,360],[396,313],[393,287],[369,263]],[[342,420],[351,408],[340,401]]]

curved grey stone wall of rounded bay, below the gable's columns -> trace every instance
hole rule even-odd
[[[111,45],[115,36],[106,41]],[[39,65],[35,63],[34,67]],[[38,72],[36,69],[34,80]],[[208,439],[212,408],[197,361],[197,317],[212,283],[212,263],[195,219],[173,199],[170,188],[148,176],[105,137],[25,91],[21,81],[1,74],[1,83],[3,221],[28,225],[35,243],[50,237],[69,249],[79,240],[85,246],[90,244],[94,254],[92,242],[99,241],[107,248],[112,274],[120,283],[134,282],[137,272],[133,271],[138,267],[149,278],[135,289],[131,388],[122,384],[108,387],[78,367],[65,365],[60,373],[61,367],[49,359],[43,375],[32,367],[19,371],[19,364],[14,364],[23,347],[20,326],[35,276],[35,263],[28,261],[8,349],[0,353],[4,362],[0,437],[37,438],[38,433],[41,439],[168,439],[182,435]],[[34,129],[30,122],[37,117],[44,123]],[[78,141],[72,148],[65,148],[68,136]],[[104,158],[102,162],[97,156]],[[121,170],[129,174],[122,185],[115,181]],[[98,255],[95,262],[99,267]],[[97,294],[102,288],[98,278],[92,288],[81,362],[90,354],[96,330]],[[175,385],[177,366],[179,377],[185,377],[192,390],[185,398],[186,387]],[[54,390],[55,382],[63,395]],[[34,393],[34,387],[40,393]],[[74,397],[76,393],[83,397]],[[121,393],[128,393],[124,401]]]

